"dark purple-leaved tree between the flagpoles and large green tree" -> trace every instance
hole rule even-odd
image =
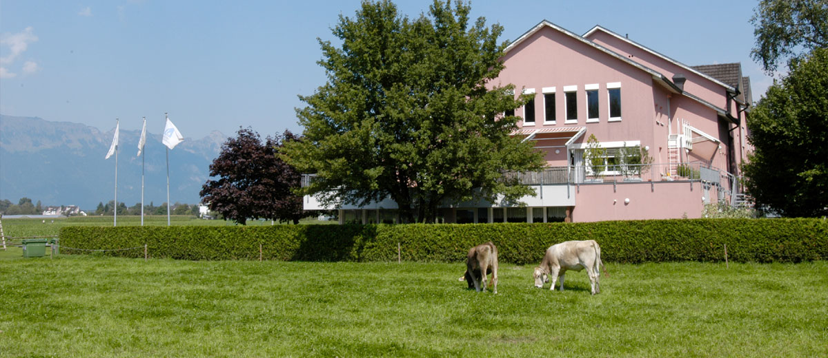
[[[285,131],[264,143],[250,128],[239,129],[221,147],[219,157],[209,166],[210,176],[201,189],[209,209],[244,224],[248,218],[265,218],[298,223],[303,217],[302,199],[292,192],[301,186],[301,174],[278,158],[282,141],[296,141]]]

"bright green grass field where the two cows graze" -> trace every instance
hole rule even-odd
[[[0,356],[828,356],[828,263],[609,264],[561,292],[503,265],[0,260]]]

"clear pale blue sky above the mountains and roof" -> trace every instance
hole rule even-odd
[[[409,17],[431,1],[399,1]],[[741,62],[758,98],[772,84],[750,59],[755,1],[476,1],[472,15],[514,40],[546,19],[599,24],[684,64]],[[0,0],[0,113],[186,137],[301,132],[298,94],[325,83],[317,37],[359,1]]]

